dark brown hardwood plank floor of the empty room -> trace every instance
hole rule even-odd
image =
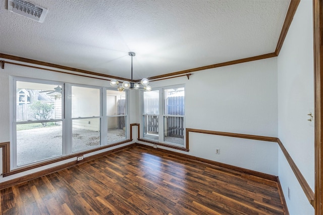
[[[285,214],[277,182],[140,146],[0,192],[3,214]]]

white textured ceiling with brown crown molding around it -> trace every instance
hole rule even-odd
[[[275,51],[289,0],[32,0],[43,23],[0,5],[0,52],[134,79]]]

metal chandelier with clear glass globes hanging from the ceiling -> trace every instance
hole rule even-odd
[[[132,57],[136,56],[135,52],[129,52],[129,56],[131,56],[131,81],[124,81],[122,85],[118,87],[118,91],[123,92],[125,89],[144,89],[145,91],[149,92],[151,90],[151,86],[149,86],[149,81],[146,78],[143,78],[140,82],[135,83],[132,79]],[[119,81],[116,79],[112,79],[110,81],[110,85],[115,87],[119,84]],[[143,87],[140,87],[140,84]]]

